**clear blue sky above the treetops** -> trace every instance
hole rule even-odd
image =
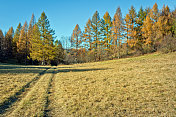
[[[83,30],[96,10],[100,17],[106,11],[113,17],[118,6],[125,15],[131,5],[138,11],[141,6],[152,8],[155,2],[159,9],[163,4],[171,10],[176,7],[176,0],[0,0],[0,29],[5,32],[10,26],[16,29],[19,22],[22,25],[25,21],[29,23],[32,13],[37,21],[44,11],[59,39],[70,36],[76,24]]]

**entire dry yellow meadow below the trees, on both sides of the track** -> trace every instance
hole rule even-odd
[[[176,53],[48,68],[0,64],[1,104],[38,77],[0,116],[176,115]]]

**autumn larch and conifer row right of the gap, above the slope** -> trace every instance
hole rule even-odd
[[[131,6],[122,17],[120,7],[114,17],[98,11],[89,18],[84,30],[77,24],[70,39],[72,62],[90,62],[122,58],[130,55],[176,51],[176,9],[153,7],[138,12]]]

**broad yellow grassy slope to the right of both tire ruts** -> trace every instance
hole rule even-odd
[[[55,115],[176,115],[176,53],[59,66]]]

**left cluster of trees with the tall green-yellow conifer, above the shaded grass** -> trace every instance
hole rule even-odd
[[[35,21],[32,14],[29,25],[19,23],[14,32],[11,27],[7,33],[0,30],[0,62],[9,60],[20,64],[58,64],[63,61],[64,49],[55,40],[55,31],[43,12]]]

